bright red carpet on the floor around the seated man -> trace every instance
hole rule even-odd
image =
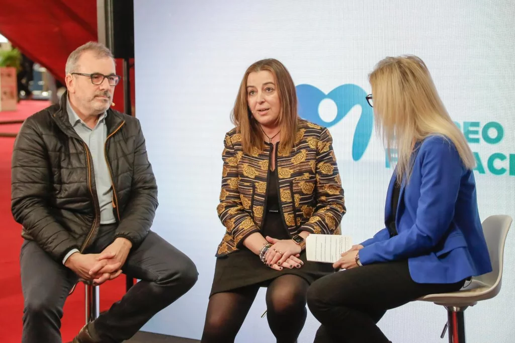
[[[18,111],[0,112],[0,121],[25,119],[45,107],[47,101],[21,101]],[[0,125],[0,132],[18,132],[20,125]],[[11,214],[11,155],[14,138],[0,138],[0,342],[19,343],[22,337],[23,296],[20,282],[21,226]],[[100,311],[125,293],[125,276],[100,286]],[[64,305],[61,334],[71,340],[85,323],[84,287],[78,285]]]

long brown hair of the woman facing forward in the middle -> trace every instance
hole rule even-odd
[[[273,58],[260,60],[247,68],[239,85],[238,95],[231,113],[231,121],[236,126],[237,132],[242,135],[243,151],[251,154],[253,148],[258,148],[260,151],[264,150],[265,144],[261,128],[252,116],[247,102],[247,77],[252,72],[263,70],[272,73],[276,80],[281,101],[281,112],[278,119],[278,124],[281,127],[279,146],[289,152],[295,143],[295,134],[297,133],[297,92],[288,70],[278,60]]]

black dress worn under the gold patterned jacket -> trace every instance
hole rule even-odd
[[[289,239],[288,231],[279,211],[277,186],[277,173],[276,171],[270,171],[267,185],[266,217],[261,234],[264,237]],[[334,272],[330,263],[306,261],[305,251],[300,254],[300,260],[304,262],[304,265],[300,268],[275,270],[261,262],[258,255],[242,247],[238,251],[216,259],[210,296],[252,285],[266,287],[273,279],[288,274],[297,275],[311,284],[313,281]]]

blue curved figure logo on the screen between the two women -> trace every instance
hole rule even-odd
[[[341,121],[354,106],[361,106],[361,117],[352,139],[352,159],[354,161],[361,159],[372,136],[374,122],[373,109],[365,98],[367,93],[355,84],[342,84],[329,94],[325,94],[311,84],[299,84],[296,89],[300,117],[317,125],[331,127]],[[323,121],[318,112],[320,101],[327,98],[332,99],[337,107],[336,117],[329,123]]]

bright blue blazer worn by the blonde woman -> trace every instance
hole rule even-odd
[[[451,140],[433,135],[415,145],[413,171],[399,194],[398,235],[387,228],[363,242],[363,265],[408,260],[418,283],[454,283],[492,270],[477,210],[474,174]],[[385,225],[396,173],[388,187]]]

